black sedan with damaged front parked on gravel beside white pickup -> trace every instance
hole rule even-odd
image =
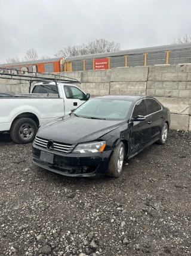
[[[170,111],[151,97],[104,96],[39,128],[33,163],[65,176],[119,177],[124,159],[164,144]]]

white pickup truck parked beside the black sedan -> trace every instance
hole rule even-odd
[[[90,94],[73,84],[36,83],[30,94],[1,97],[0,133],[10,131],[14,142],[29,143],[40,125],[71,113],[88,98]]]

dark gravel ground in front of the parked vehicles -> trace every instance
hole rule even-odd
[[[191,134],[170,131],[119,179],[69,178],[0,135],[0,255],[191,255]]]

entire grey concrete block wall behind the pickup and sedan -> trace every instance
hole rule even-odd
[[[62,72],[60,75],[79,80],[81,84],[77,85],[91,97],[109,94],[155,97],[170,109],[172,129],[191,131],[191,64]],[[0,79],[0,91],[28,92],[29,83]]]

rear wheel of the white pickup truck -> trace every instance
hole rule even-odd
[[[30,118],[19,118],[13,122],[10,135],[14,142],[26,144],[35,139],[37,130],[35,121]]]

